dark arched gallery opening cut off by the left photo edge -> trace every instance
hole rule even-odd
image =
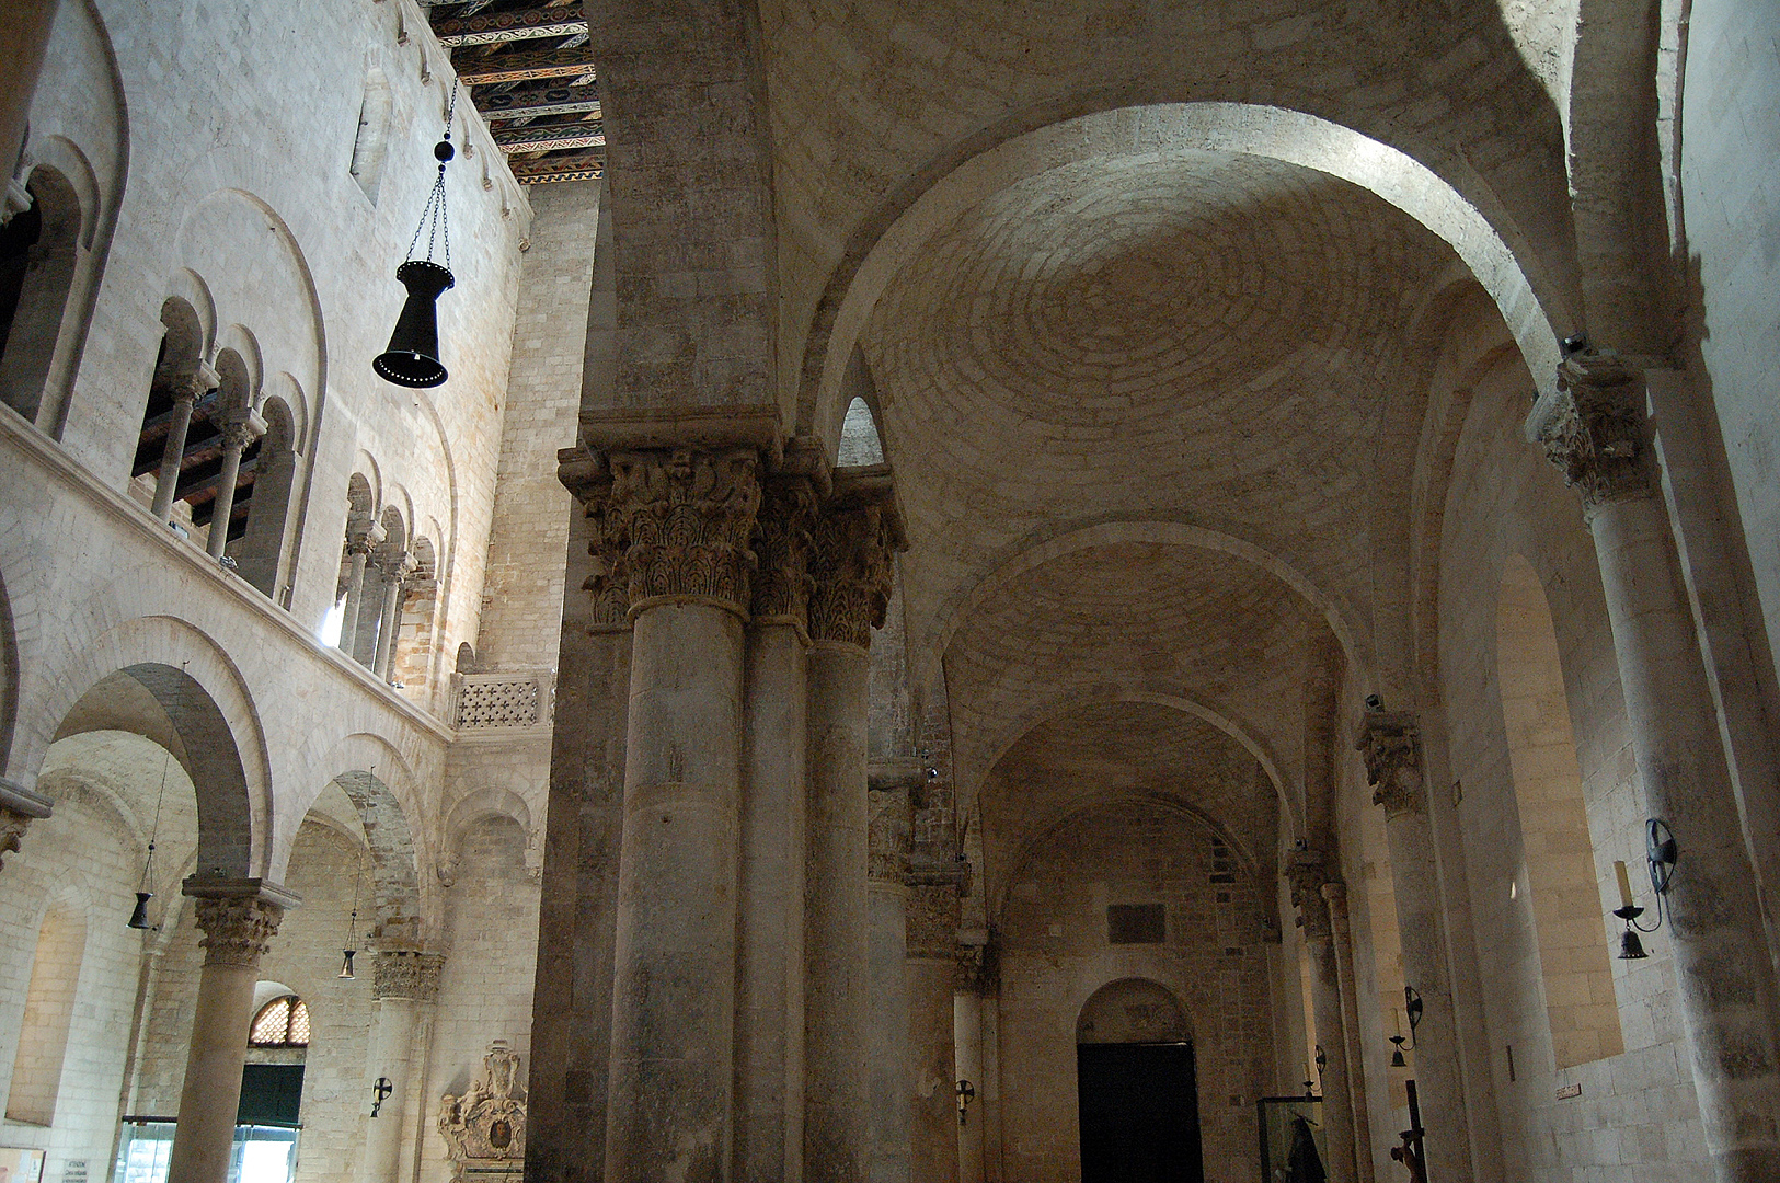
[[[30,208],[0,229],[0,400],[36,422],[75,283],[80,199],[44,165],[27,190]]]

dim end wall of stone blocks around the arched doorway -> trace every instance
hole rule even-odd
[[[997,1014],[1002,1178],[1080,1178],[1075,1023],[1102,986],[1146,978],[1173,993],[1193,1034],[1205,1178],[1258,1183],[1271,946],[1258,884],[1214,866],[1212,834],[1184,811],[1120,802],[1077,815],[1013,872]],[[1109,904],[1162,904],[1166,941],[1109,945]]]

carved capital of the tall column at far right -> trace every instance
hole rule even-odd
[[[1547,398],[1538,441],[1565,484],[1582,493],[1584,514],[1654,495],[1643,370],[1613,350],[1572,354],[1558,366],[1558,393]]]

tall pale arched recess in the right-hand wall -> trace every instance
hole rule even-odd
[[[1558,1067],[1574,1067],[1618,1055],[1625,1041],[1558,630],[1545,587],[1520,555],[1502,569],[1495,653],[1552,1055]]]

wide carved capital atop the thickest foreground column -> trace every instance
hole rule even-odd
[[[625,553],[630,616],[653,603],[748,614],[760,512],[755,448],[611,452],[607,530]]]

